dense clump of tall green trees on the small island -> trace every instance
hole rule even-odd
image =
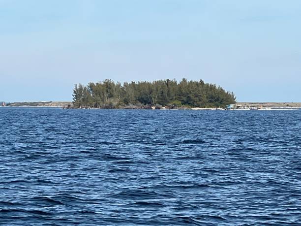
[[[180,82],[166,79],[124,82],[123,85],[105,79],[87,86],[76,84],[73,90],[73,104],[78,108],[118,108],[126,105],[225,107],[232,103],[236,103],[233,92],[203,80],[187,81],[185,78]]]

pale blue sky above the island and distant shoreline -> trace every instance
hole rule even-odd
[[[0,100],[185,77],[238,101],[301,102],[300,12],[300,0],[0,0]]]

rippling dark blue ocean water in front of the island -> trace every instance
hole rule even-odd
[[[301,225],[301,111],[0,108],[1,225]]]

